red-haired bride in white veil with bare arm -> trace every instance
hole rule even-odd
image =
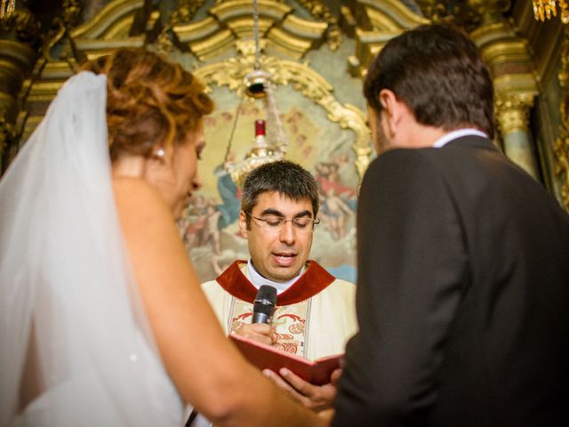
[[[175,228],[212,108],[143,49],[62,86],[0,181],[0,426],[323,423],[228,342]]]

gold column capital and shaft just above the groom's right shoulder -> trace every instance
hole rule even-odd
[[[496,96],[496,119],[506,156],[538,180],[538,166],[528,123],[533,99],[533,93],[499,93]]]

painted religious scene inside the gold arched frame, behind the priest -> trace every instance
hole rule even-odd
[[[266,103],[215,87],[217,108],[204,118],[206,147],[199,162],[203,181],[180,221],[180,232],[200,280],[216,278],[236,259],[248,259],[240,234],[241,190],[227,171],[252,147],[254,122],[267,118]],[[316,178],[321,222],[314,231],[309,259],[334,276],[356,280],[356,208],[359,175],[355,134],[330,120],[328,113],[290,86],[276,90],[284,127],[284,158],[299,163]]]

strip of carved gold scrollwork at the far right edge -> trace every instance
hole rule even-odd
[[[561,101],[561,126],[559,137],[553,146],[557,159],[555,173],[561,180],[561,202],[565,211],[569,212],[569,28],[565,28],[565,38],[561,51],[561,68],[559,85],[563,90]]]

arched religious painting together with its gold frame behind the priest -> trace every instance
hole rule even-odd
[[[249,46],[250,47],[250,46]],[[328,49],[323,47],[323,49]],[[264,100],[244,95],[243,78],[252,70],[247,44],[238,44],[237,58],[196,68],[208,82],[217,109],[204,121],[207,147],[200,170],[204,181],[180,222],[188,253],[202,279],[215,278],[236,258],[248,257],[237,218],[240,189],[228,173],[228,163],[243,159],[251,149],[254,121],[267,119]],[[276,83],[275,99],[284,127],[284,158],[306,167],[320,190],[321,223],[317,226],[311,259],[335,276],[356,279],[355,234],[357,187],[371,155],[369,132],[362,109],[342,104],[333,85],[306,63],[263,56],[261,67]],[[349,75],[343,84],[361,92]]]

